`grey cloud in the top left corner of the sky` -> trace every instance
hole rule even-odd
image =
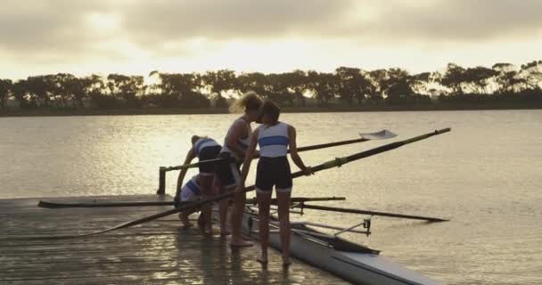
[[[66,60],[91,50],[98,35],[89,32],[86,16],[103,11],[105,1],[7,0],[0,10],[0,58],[18,61]]]

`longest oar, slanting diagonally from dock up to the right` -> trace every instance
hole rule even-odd
[[[324,162],[323,164],[317,165],[316,167],[312,167],[312,170],[316,173],[316,172],[319,172],[319,171],[322,171],[322,170],[325,170],[325,169],[330,169],[330,168],[333,168],[333,167],[341,167],[342,165],[347,164],[349,162],[356,161],[356,160],[359,160],[359,159],[364,159],[364,158],[367,158],[367,157],[370,157],[370,156],[373,156],[375,154],[382,153],[382,152],[385,152],[385,151],[391,151],[391,150],[397,149],[398,147],[406,145],[408,143],[422,141],[424,139],[430,138],[431,136],[448,133],[449,131],[450,131],[450,128],[445,128],[445,129],[441,129],[441,130],[431,132],[429,134],[422,134],[422,135],[413,137],[413,138],[405,140],[405,141],[391,142],[391,143],[379,146],[377,148],[374,148],[374,149],[371,149],[371,150],[368,150],[368,151],[357,152],[357,153],[352,154],[352,155],[350,155],[348,157],[337,158],[337,159],[333,159],[331,161]],[[304,173],[302,171],[298,171],[296,173],[293,173],[292,177],[293,178],[298,178],[298,177],[303,176],[303,175],[304,175]],[[244,189],[244,192],[254,191],[254,189],[256,189],[256,187],[254,185],[251,185],[249,187],[246,187]],[[201,207],[203,205],[213,203],[213,202],[218,202],[219,200],[222,200],[222,199],[232,198],[232,197],[234,197],[234,195],[235,195],[234,191],[228,191],[226,193],[220,194],[220,195],[215,196],[215,197],[210,198],[210,199],[202,199],[202,200],[194,202],[193,204],[190,204],[190,205],[186,205],[186,206],[179,207],[179,208],[173,208],[173,209],[170,209],[168,211],[164,211],[164,212],[152,215],[152,216],[145,216],[145,217],[137,219],[135,221],[127,222],[127,223],[124,223],[124,224],[119,224],[119,225],[113,226],[113,227],[111,227],[109,229],[106,229],[106,230],[103,230],[103,231],[90,232],[90,233],[86,233],[86,234],[72,235],[72,236],[59,236],[57,238],[76,238],[76,237],[85,237],[85,236],[100,234],[100,233],[104,233],[104,232],[112,232],[112,231],[123,229],[123,228],[129,227],[129,226],[133,226],[133,225],[136,225],[136,224],[143,224],[143,223],[146,223],[146,222],[151,222],[152,220],[159,219],[160,217],[177,214],[179,212],[189,210],[189,209],[192,209],[192,208],[199,208],[199,207]]]

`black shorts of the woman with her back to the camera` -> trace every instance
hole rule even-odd
[[[262,157],[258,161],[256,191],[271,192],[273,186],[277,192],[292,191],[292,171],[286,157]]]

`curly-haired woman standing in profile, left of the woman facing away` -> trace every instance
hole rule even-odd
[[[234,102],[231,111],[244,110],[241,118],[234,120],[234,123],[227,131],[224,147],[219,158],[233,158],[234,161],[221,162],[217,164],[216,173],[221,185],[226,191],[234,191],[239,185],[239,166],[242,159],[245,157],[246,148],[249,145],[250,134],[252,129],[251,122],[259,119],[259,108],[262,105],[262,100],[258,94],[247,92],[242,97]],[[236,193],[234,196],[234,208],[230,216],[232,224],[232,240],[231,247],[250,247],[251,242],[242,239],[241,226],[242,214],[244,211],[244,203],[246,200],[245,193]]]

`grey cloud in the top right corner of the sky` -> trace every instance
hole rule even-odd
[[[376,33],[399,39],[511,40],[539,34],[540,11],[538,0],[395,0],[370,25]]]

